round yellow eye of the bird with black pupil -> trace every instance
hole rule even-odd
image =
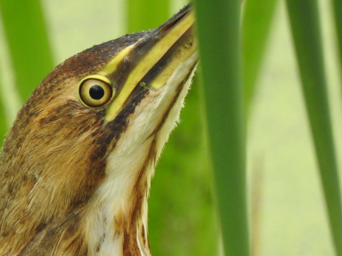
[[[86,79],[80,84],[79,88],[81,100],[91,107],[106,104],[110,100],[112,93],[109,84],[100,79]]]

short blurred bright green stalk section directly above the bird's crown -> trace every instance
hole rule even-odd
[[[128,0],[128,32],[153,29],[167,20],[169,1]]]

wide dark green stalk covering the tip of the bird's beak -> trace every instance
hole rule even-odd
[[[212,165],[224,251],[249,255],[240,1],[195,1]]]

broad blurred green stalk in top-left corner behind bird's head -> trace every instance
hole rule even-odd
[[[0,16],[23,100],[53,68],[42,7],[37,0],[0,0]]]

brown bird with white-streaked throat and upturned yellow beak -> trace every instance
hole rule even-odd
[[[150,182],[198,63],[185,6],[70,57],[0,153],[0,255],[151,255]]]

